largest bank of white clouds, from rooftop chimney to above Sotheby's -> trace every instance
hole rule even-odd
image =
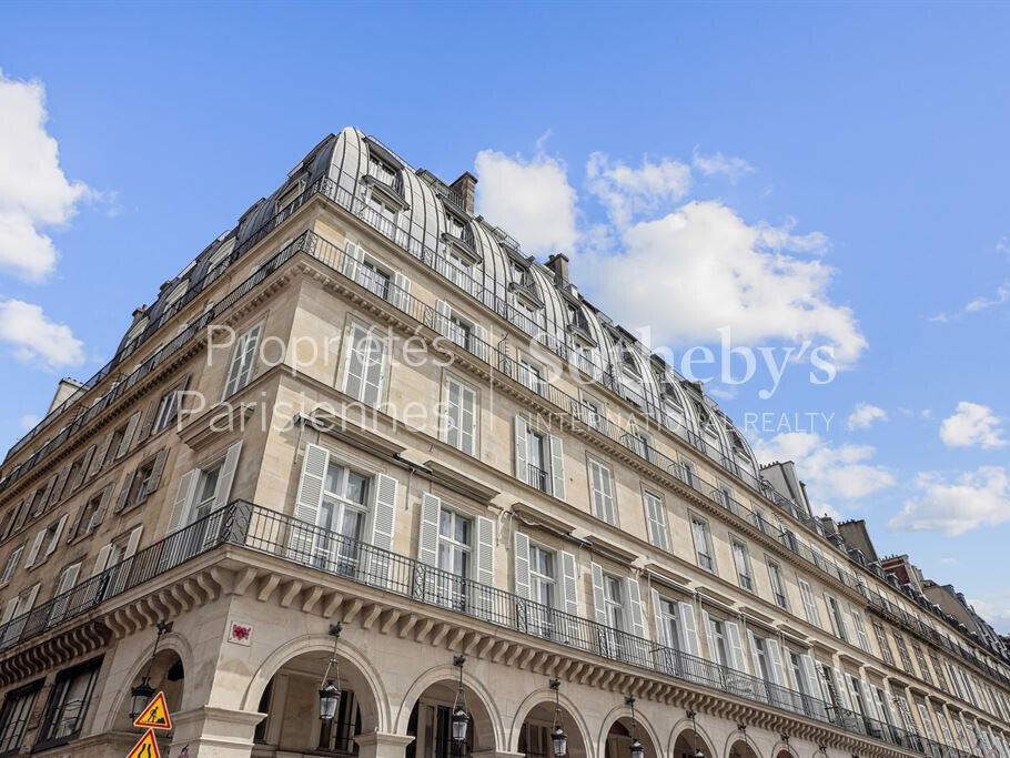
[[[560,160],[485,150],[476,172],[485,218],[529,252],[577,244],[572,257],[580,285],[624,324],[648,327],[654,345],[711,344],[729,327],[734,344],[828,346],[834,355],[825,357],[839,368],[867,346],[852,310],[830,295],[835,270],[812,257],[827,251],[828,239],[798,233],[791,218],[748,223],[716,201],[684,202],[691,189],[684,162],[644,159],[630,166],[594,153],[586,188],[606,220],[582,229]]]

